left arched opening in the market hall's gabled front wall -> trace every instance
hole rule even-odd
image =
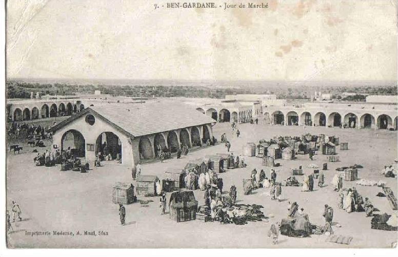
[[[61,150],[67,150],[69,147],[73,156],[86,156],[86,141],[79,131],[71,129],[62,135]]]

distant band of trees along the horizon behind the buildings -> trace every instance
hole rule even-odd
[[[344,92],[356,92],[359,94],[398,94],[395,86],[365,86],[365,87],[308,87],[308,86],[274,86],[257,88],[210,88],[205,86],[113,86],[113,85],[71,85],[71,84],[41,84],[18,81],[7,81],[7,98],[30,98],[30,92],[36,95],[78,95],[93,94],[95,90],[101,90],[102,94],[114,96],[132,97],[210,97],[224,98],[227,94],[276,94],[278,98],[310,98],[314,91],[330,93],[336,98]],[[338,98],[338,97],[337,97]],[[352,97],[356,101],[364,101],[364,96]],[[352,99],[353,100],[353,99]]]

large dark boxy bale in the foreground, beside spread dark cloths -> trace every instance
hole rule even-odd
[[[169,200],[170,219],[175,222],[195,220],[197,204],[191,190],[172,192]]]

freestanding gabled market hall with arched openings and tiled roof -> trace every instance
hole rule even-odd
[[[104,144],[122,165],[135,167],[154,159],[159,148],[175,152],[182,145],[201,146],[213,136],[215,120],[195,108],[162,103],[97,103],[55,125],[53,145],[74,149],[93,162]]]

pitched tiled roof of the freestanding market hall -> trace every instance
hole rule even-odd
[[[216,122],[193,107],[178,103],[98,103],[84,111],[86,113],[90,110],[133,136]],[[81,115],[72,116],[59,123],[54,130],[65,126],[79,116]]]

